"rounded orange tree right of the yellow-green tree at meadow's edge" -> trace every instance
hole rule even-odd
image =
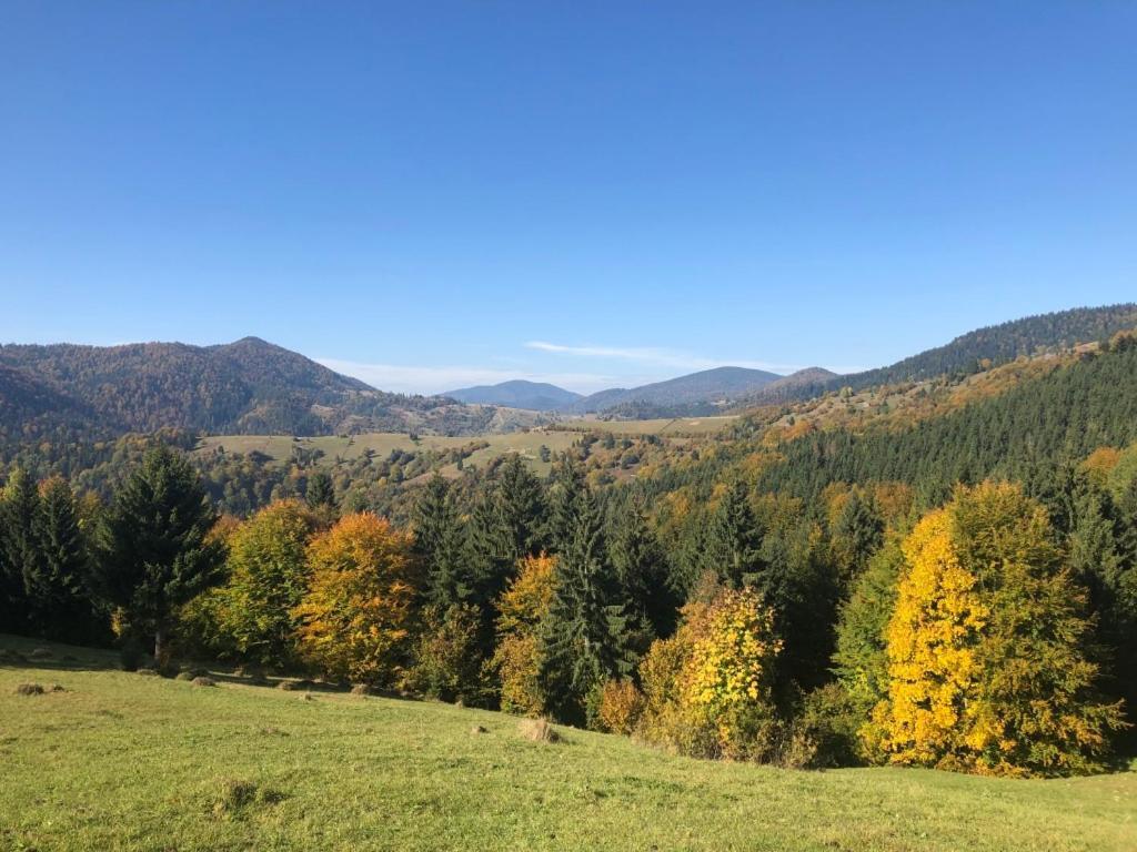
[[[293,611],[300,654],[334,678],[393,685],[409,661],[420,573],[410,533],[362,512],[308,545],[308,591]]]

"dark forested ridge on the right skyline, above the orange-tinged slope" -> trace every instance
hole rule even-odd
[[[943,375],[976,373],[1020,356],[1069,349],[1078,343],[1109,340],[1118,332],[1137,328],[1137,303],[1102,308],[1073,308],[1040,314],[978,328],[951,343],[897,361],[890,367],[845,376],[813,376],[792,386],[772,385],[753,394],[749,404],[802,400],[841,387],[854,391],[897,382],[918,382]]]

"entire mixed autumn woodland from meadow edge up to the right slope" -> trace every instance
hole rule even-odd
[[[438,474],[473,442],[8,445],[0,630],[706,758],[1098,771],[1137,719],[1137,339],[1040,364],[899,411],[836,394],[704,440],[586,433],[542,478],[517,456]]]

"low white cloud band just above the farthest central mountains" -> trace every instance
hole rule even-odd
[[[524,369],[492,367],[424,367],[396,364],[366,364],[337,358],[317,358],[325,367],[366,382],[372,387],[397,393],[443,393],[470,385],[492,385],[523,378],[548,382],[579,393],[592,393],[616,383],[613,376],[596,373],[533,373]]]

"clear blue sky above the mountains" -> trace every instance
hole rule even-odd
[[[594,390],[887,364],[1135,261],[1134,2],[0,7],[0,341]]]

